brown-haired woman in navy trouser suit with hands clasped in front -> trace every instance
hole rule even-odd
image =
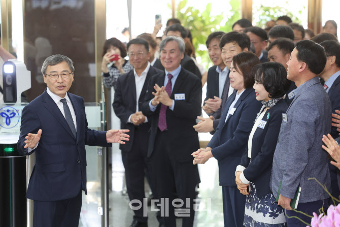
[[[247,139],[261,102],[256,101],[252,69],[259,64],[252,52],[241,52],[232,57],[230,86],[236,90],[224,105],[216,132],[206,149],[193,152],[193,164],[205,164],[214,157],[219,165],[222,186],[224,226],[243,226],[246,197],[235,184],[234,172],[247,150]]]

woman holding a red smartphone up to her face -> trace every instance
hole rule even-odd
[[[130,62],[124,57],[126,57],[126,47],[122,42],[116,38],[105,41],[103,61],[101,61],[105,87],[116,88],[118,77],[133,69]]]

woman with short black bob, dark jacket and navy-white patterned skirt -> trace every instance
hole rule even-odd
[[[287,226],[284,209],[275,203],[269,181],[282,114],[288,108],[282,96],[289,88],[289,81],[285,68],[278,62],[259,64],[253,71],[256,100],[263,106],[249,135],[247,152],[236,167],[236,184],[247,195],[245,226],[283,227]]]

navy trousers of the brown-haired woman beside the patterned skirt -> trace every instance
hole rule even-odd
[[[222,186],[224,226],[243,226],[246,196],[237,187]]]

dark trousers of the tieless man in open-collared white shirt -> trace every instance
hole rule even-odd
[[[133,210],[133,219],[148,222],[147,215],[143,214],[144,207],[144,177],[147,168],[148,141],[145,141],[147,131],[136,128],[133,135],[132,148],[129,152],[122,151],[122,160],[125,168],[126,189],[129,200],[139,200],[142,207]],[[138,204],[132,204],[134,207]]]

